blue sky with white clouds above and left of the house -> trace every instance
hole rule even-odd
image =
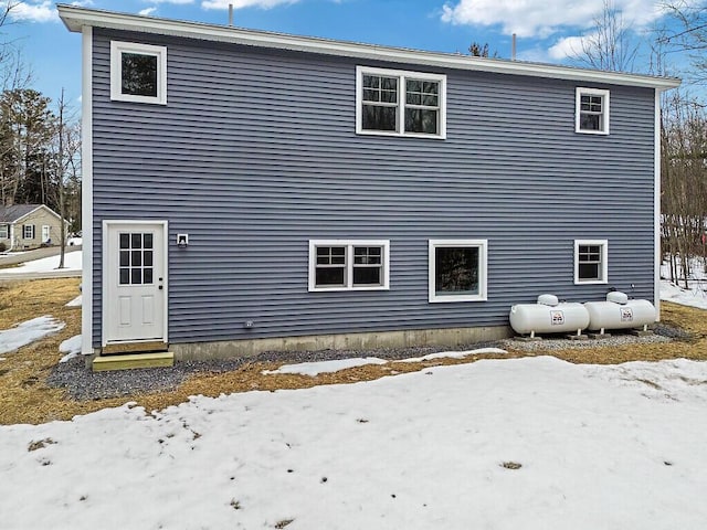
[[[32,86],[55,99],[62,87],[70,99],[81,91],[81,36],[70,33],[54,2],[11,0],[17,6],[0,29],[2,41],[22,53]],[[68,1],[68,0],[67,0]],[[0,0],[0,4],[7,0]],[[488,43],[509,57],[511,34],[518,59],[568,63],[579,40],[591,31],[603,0],[83,0],[85,7],[126,13],[228,22],[300,35],[465,53],[472,41]],[[613,0],[636,38],[664,15],[662,1]],[[637,67],[637,70],[645,70]]]

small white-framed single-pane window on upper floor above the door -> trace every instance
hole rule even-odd
[[[167,47],[112,41],[110,99],[167,105]]]

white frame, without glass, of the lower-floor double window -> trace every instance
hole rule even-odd
[[[317,286],[317,248],[320,246],[344,246],[345,251],[345,285],[341,286]],[[354,284],[354,247],[356,246],[379,246],[381,247],[381,283],[380,285],[355,285]],[[336,293],[345,290],[389,290],[390,289],[390,240],[309,240],[309,282],[310,293]]]

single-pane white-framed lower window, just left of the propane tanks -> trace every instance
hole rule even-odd
[[[487,240],[430,240],[430,301],[486,299]]]

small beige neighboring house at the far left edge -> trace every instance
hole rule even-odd
[[[8,251],[59,245],[62,224],[66,234],[68,221],[62,223],[62,218],[44,204],[0,205],[0,245]]]

